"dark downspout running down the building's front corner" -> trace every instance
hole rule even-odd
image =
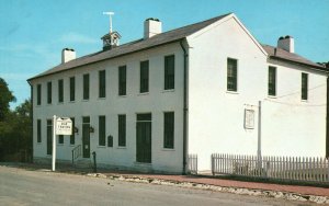
[[[183,96],[183,174],[186,174],[188,164],[188,53],[183,45],[183,41],[180,41],[180,45],[184,53],[184,96]]]

